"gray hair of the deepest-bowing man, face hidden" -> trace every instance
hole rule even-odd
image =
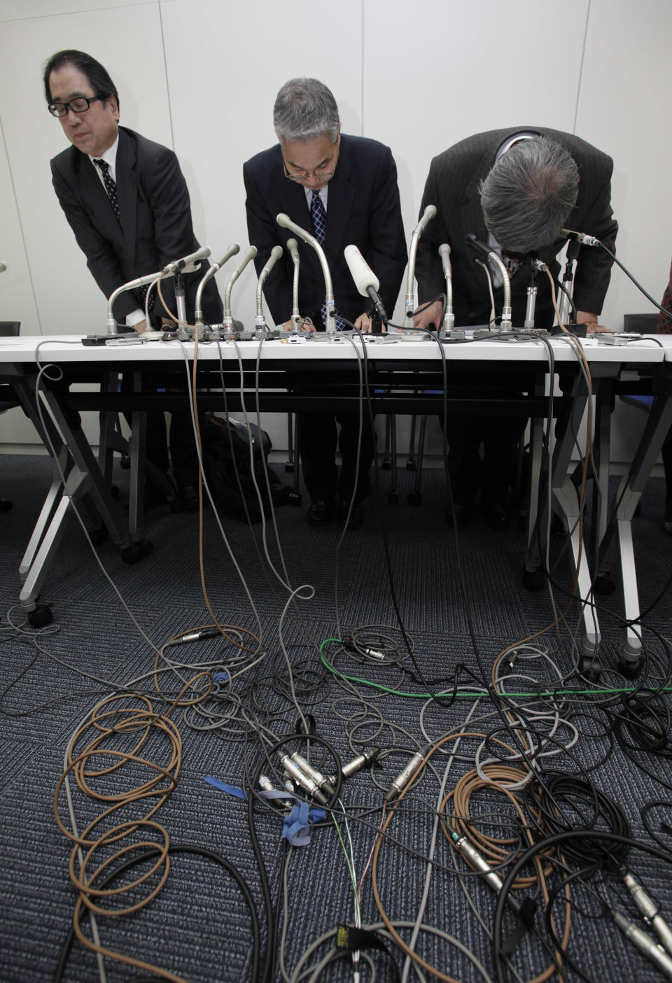
[[[479,192],[502,249],[530,253],[560,237],[579,195],[579,168],[554,140],[523,140],[499,158]]]

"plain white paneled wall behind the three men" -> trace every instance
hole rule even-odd
[[[314,75],[333,89],[345,132],[392,146],[409,234],[431,158],[471,133],[540,124],[599,146],[615,160],[619,257],[662,295],[669,0],[0,0],[0,25],[0,319],[21,319],[22,333],[104,328],[104,299],[50,181],[49,158],[67,142],[46,110],[41,66],[65,47],[105,65],[122,123],[175,149],[214,256],[247,243],[241,164],[275,143],[278,87]],[[223,290],[226,269],[219,276]],[[254,288],[250,269],[233,292],[248,322]],[[603,322],[645,310],[615,270]],[[19,414],[0,421],[0,443],[31,439]]]

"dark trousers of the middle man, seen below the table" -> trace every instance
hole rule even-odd
[[[311,499],[331,502],[337,496],[343,501],[349,501],[354,494],[355,502],[360,502],[371,494],[369,470],[373,463],[375,441],[367,417],[364,417],[362,423],[359,480],[356,489],[359,415],[300,413],[298,420],[303,480]],[[336,423],[340,427],[339,433],[336,431]],[[336,468],[336,448],[340,451],[342,461],[340,475]]]

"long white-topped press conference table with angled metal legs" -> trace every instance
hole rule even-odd
[[[564,378],[563,396],[555,396],[553,400],[553,413],[562,421],[557,428],[562,436],[555,441],[552,453],[552,502],[568,531],[573,531],[580,595],[585,597],[590,593],[590,574],[575,521],[579,513],[578,497],[568,478],[575,445],[573,434],[580,427],[588,394],[575,348],[566,339],[554,337],[544,343],[537,338],[516,340],[510,336],[504,340],[494,337],[450,341],[440,346],[432,340],[410,340],[404,335],[375,339],[368,336],[365,342],[337,335],[331,341],[200,341],[196,345],[193,341],[175,340],[137,343],[135,336],[132,337],[133,341],[127,343],[99,346],[85,345],[74,335],[0,338],[0,379],[13,384],[58,465],[51,497],[47,496],[20,569],[20,576],[25,580],[20,602],[28,611],[35,607],[50,558],[57,548],[69,495],[90,493],[111,538],[122,549],[133,549],[138,540],[138,531],[129,531],[128,519],[121,514],[103,475],[104,469],[98,465],[82,431],[80,411],[142,413],[160,408],[190,412],[186,378],[192,374],[195,355],[198,403],[203,411],[246,408],[250,414],[258,404],[264,412],[319,412],[336,408],[359,412],[368,393],[373,410],[378,413],[516,414],[539,421],[534,425],[538,434],[541,419],[549,413],[551,370],[547,345],[550,345],[555,373]],[[666,378],[672,362],[666,362],[667,350],[655,339],[643,337],[635,343],[618,345],[601,343],[598,336],[581,340],[598,403],[601,398],[606,406],[614,391],[623,386],[632,391],[638,387],[646,391],[657,387],[664,393],[661,380]],[[669,355],[672,359],[672,349]],[[51,417],[43,426],[36,413],[35,379],[39,367],[45,365],[55,368],[40,380],[42,399]],[[121,373],[132,376],[133,383],[128,390],[121,391],[116,384],[109,384],[110,378],[116,380]],[[160,376],[161,391],[154,386],[151,391],[147,391],[147,386],[143,389],[148,376],[153,378],[154,386],[156,376]],[[93,383],[94,391],[82,391],[80,383],[87,383],[89,390]],[[640,479],[667,420],[667,399],[661,398],[657,404],[662,422],[645,434],[649,449],[642,454]],[[672,414],[672,401],[669,406]],[[541,467],[541,456],[538,452],[532,455],[533,482]],[[596,466],[599,485],[606,490],[608,459],[598,460]],[[59,489],[61,471],[66,477],[66,493]],[[540,563],[536,546],[539,538],[533,534],[537,520],[535,499],[531,504],[525,558],[528,571]],[[624,516],[623,521],[629,524],[630,517]],[[605,509],[599,521],[606,528]],[[634,577],[634,560],[631,572]],[[591,658],[598,644],[596,619],[584,618],[586,658]]]

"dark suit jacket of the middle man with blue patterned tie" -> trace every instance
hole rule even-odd
[[[282,170],[279,145],[252,157],[243,165],[247,192],[247,227],[257,247],[259,272],[274,246],[285,246],[293,233],[277,225],[284,211],[311,235],[313,225],[303,187],[289,181]],[[397,188],[397,167],[388,146],[362,137],[340,138],[336,174],[329,182],[327,234],[323,246],[334,284],[336,311],[353,321],[371,307],[355,288],[343,259],[350,243],[357,246],[380,280],[380,295],[390,315],[397,302],[406,265],[406,244]],[[320,317],[325,280],[315,250],[298,240],[301,259],[299,310],[302,317]],[[264,293],[276,324],[291,317],[293,264],[284,252],[266,282]]]

